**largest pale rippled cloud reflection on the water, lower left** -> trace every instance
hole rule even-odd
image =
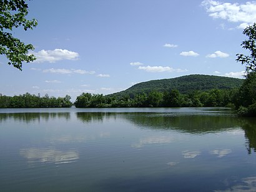
[[[72,163],[79,159],[77,151],[59,151],[52,148],[25,148],[20,150],[20,155],[29,162],[42,163]]]

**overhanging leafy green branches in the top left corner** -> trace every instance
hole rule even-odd
[[[11,32],[22,27],[25,31],[37,26],[36,19],[27,20],[28,6],[24,0],[0,0],[0,54],[6,55],[8,64],[22,70],[22,62],[36,60],[34,55],[28,55],[34,50],[32,44],[24,44]]]

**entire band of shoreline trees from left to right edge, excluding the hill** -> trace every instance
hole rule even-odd
[[[139,94],[102,95],[82,93],[74,103],[71,97],[49,97],[29,93],[9,97],[0,94],[0,108],[72,107],[232,107],[240,115],[256,115],[256,73],[251,72],[240,87],[232,89],[191,90],[182,94],[177,89],[152,90]]]

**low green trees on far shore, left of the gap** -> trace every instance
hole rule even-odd
[[[70,100],[69,95],[56,98],[49,97],[47,94],[44,97],[29,93],[14,97],[0,94],[0,108],[71,107],[72,102]]]

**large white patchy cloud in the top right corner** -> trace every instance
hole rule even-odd
[[[239,28],[256,22],[256,2],[248,1],[244,4],[219,2],[212,0],[202,1],[202,6],[209,12],[209,16],[214,19],[224,19],[229,22],[239,23]]]

